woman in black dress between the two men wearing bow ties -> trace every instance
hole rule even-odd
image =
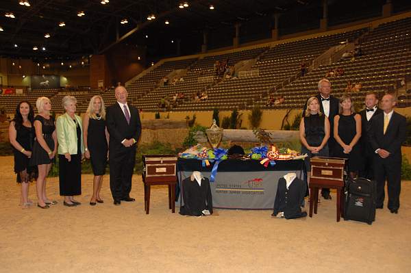
[[[334,117],[334,138],[336,145],[334,157],[349,159],[349,176],[354,178],[362,170],[360,143],[361,116],[356,114],[354,103],[349,94],[343,94],[340,99],[340,114]]]

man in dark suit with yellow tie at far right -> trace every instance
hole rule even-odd
[[[383,114],[371,121],[369,140],[374,150],[374,177],[377,182],[377,209],[384,205],[387,180],[388,209],[398,213],[401,192],[401,143],[406,140],[406,118],[394,112],[396,100],[386,94],[381,100]]]

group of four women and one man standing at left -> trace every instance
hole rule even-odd
[[[14,120],[10,122],[9,137],[14,150],[14,171],[21,183],[21,206],[29,200],[29,182],[36,179],[37,206],[48,209],[56,205],[46,193],[46,178],[58,156],[60,196],[63,205],[81,205],[74,196],[82,194],[82,159],[90,159],[94,173],[90,205],[103,203],[100,196],[105,169],[110,161],[110,189],[114,205],[121,200],[132,202],[132,174],[136,143],[141,133],[138,110],[127,104],[127,90],[115,90],[117,102],[105,109],[101,96],[90,99],[84,118],[75,114],[77,100],[64,96],[65,113],[54,120],[51,101],[42,96],[36,101],[38,115],[28,101],[18,103]],[[110,147],[110,148],[109,148]],[[110,153],[109,153],[110,151]]]

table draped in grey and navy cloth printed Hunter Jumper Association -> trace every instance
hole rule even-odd
[[[197,170],[210,179],[212,166],[202,166],[201,160],[179,158],[177,176],[179,185]],[[303,178],[304,161],[275,161],[264,167],[258,160],[227,159],[220,162],[216,179],[210,182],[213,207],[220,209],[273,209],[278,179],[295,172]],[[178,196],[178,195],[177,195]],[[181,196],[176,205],[182,205]]]

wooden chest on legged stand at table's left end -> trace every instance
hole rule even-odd
[[[177,183],[177,156],[143,155],[142,183],[144,183],[144,209],[150,210],[151,185],[169,185],[169,209],[175,212],[175,184]]]

